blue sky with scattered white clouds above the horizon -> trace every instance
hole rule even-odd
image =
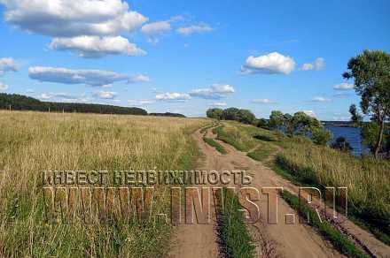
[[[390,52],[390,1],[0,0],[0,92],[42,101],[348,120],[364,49]]]

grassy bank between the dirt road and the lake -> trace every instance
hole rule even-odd
[[[350,156],[320,147],[304,137],[238,123],[223,123],[215,131],[218,137],[239,150],[259,145],[251,156],[264,160],[277,146],[280,152],[271,167],[297,185],[347,186],[348,213],[356,224],[390,244],[390,163]]]

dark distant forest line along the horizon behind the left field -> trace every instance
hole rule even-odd
[[[0,110],[32,110],[51,112],[77,112],[97,114],[119,114],[119,115],[142,115],[147,116],[148,112],[140,108],[119,107],[113,105],[90,104],[90,103],[67,103],[67,102],[41,102],[33,97],[16,94],[0,94]],[[182,117],[181,114],[173,113],[152,113],[151,116]]]

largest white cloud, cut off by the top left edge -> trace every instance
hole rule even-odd
[[[131,32],[147,21],[122,0],[3,0],[5,20],[23,30],[54,37]]]

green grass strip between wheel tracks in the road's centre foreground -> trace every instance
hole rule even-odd
[[[253,241],[246,230],[242,213],[238,211],[242,208],[238,203],[237,195],[223,189],[223,198],[226,205],[219,219],[219,231],[225,247],[224,253],[227,257],[254,257]]]

